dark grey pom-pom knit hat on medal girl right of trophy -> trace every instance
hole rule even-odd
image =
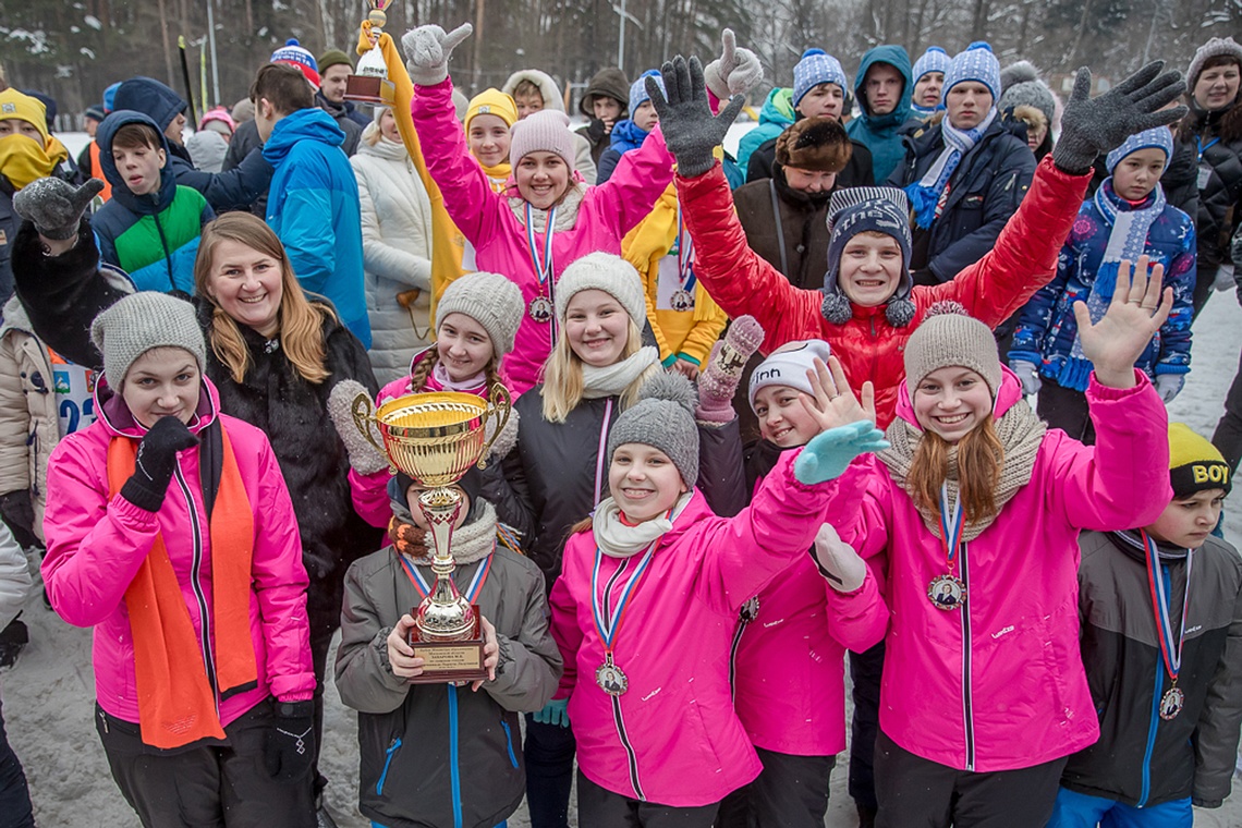
[[[698,480],[698,394],[681,374],[651,375],[638,390],[638,402],[626,408],[609,434],[609,463],[619,446],[642,443],[668,454],[687,487]]]

